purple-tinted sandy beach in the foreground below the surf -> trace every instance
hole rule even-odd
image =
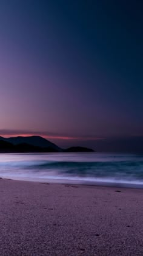
[[[143,255],[143,190],[1,179],[0,196],[1,256]]]

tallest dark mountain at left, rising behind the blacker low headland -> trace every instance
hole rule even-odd
[[[61,152],[62,149],[56,146],[56,144],[46,140],[45,138],[42,138],[40,136],[30,136],[30,137],[12,137],[12,138],[3,138],[0,137],[0,140],[7,141],[9,143],[12,143],[13,145],[18,144],[28,144],[28,148],[31,146],[39,147],[39,148],[49,148],[50,152]]]

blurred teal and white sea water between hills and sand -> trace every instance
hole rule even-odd
[[[143,154],[0,154],[0,177],[143,188]]]

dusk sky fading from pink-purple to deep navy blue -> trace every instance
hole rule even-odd
[[[143,136],[142,12],[139,0],[0,0],[0,135]]]

